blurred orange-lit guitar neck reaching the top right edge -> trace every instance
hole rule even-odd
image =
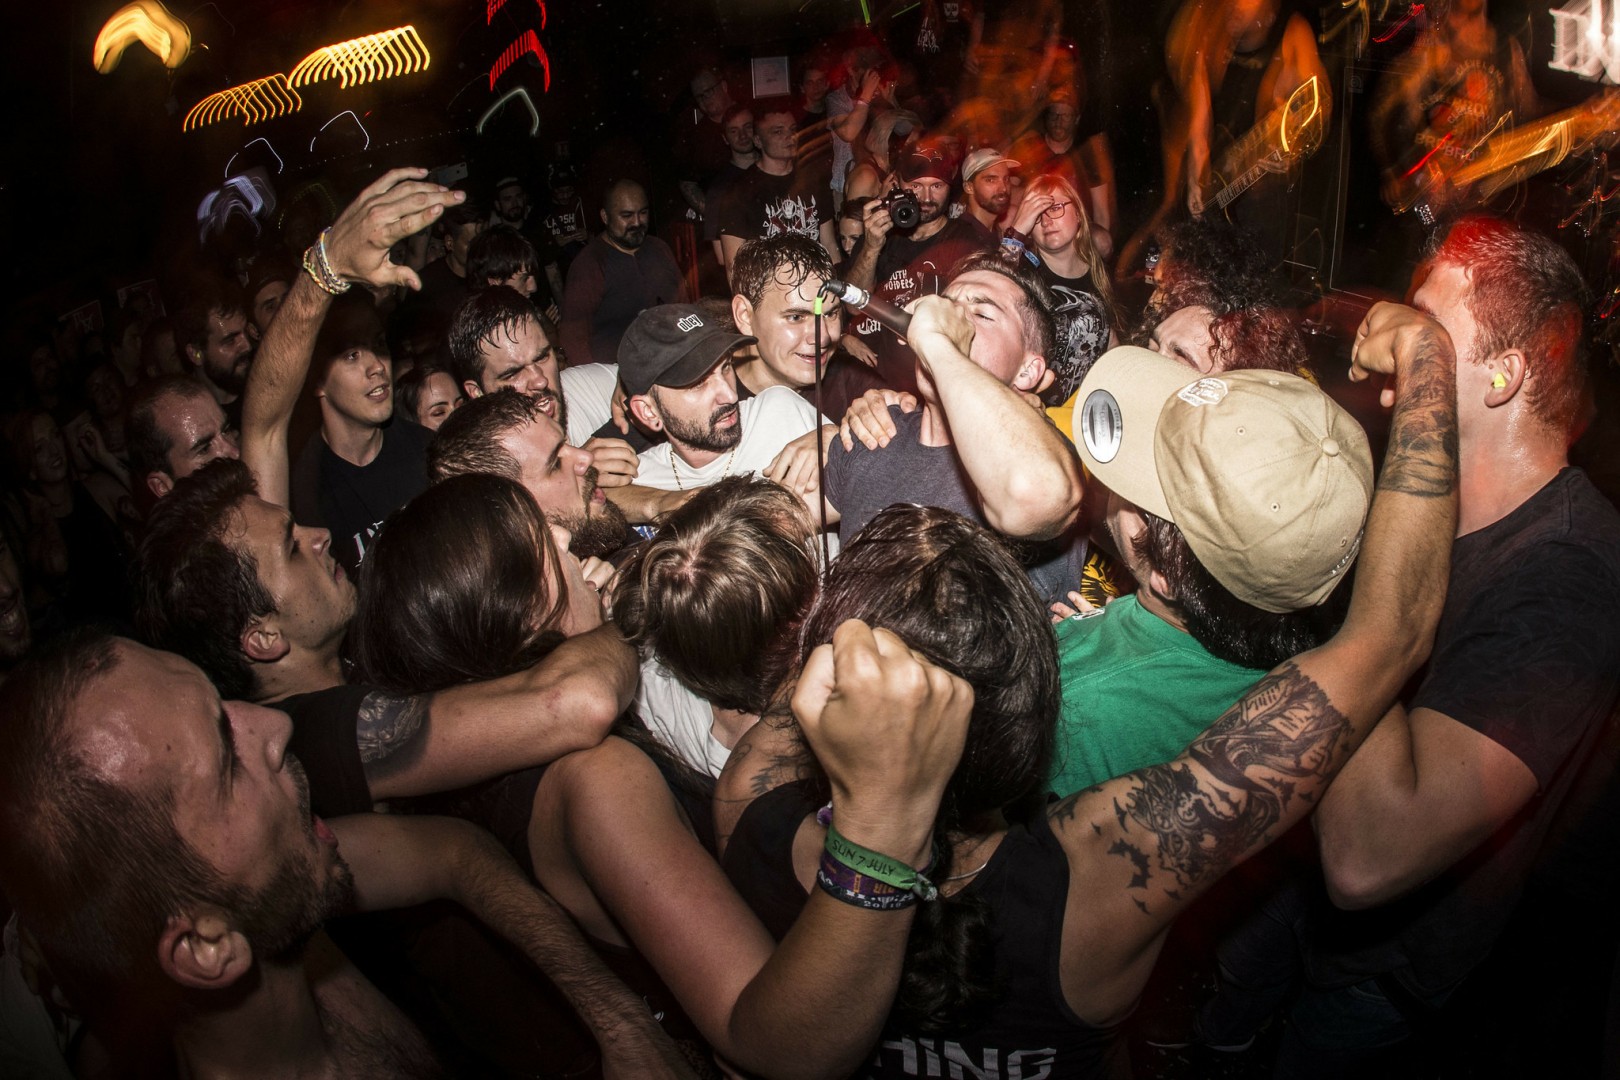
[[[1503,117],[1507,120],[1507,117]],[[1500,128],[1502,125],[1498,125]],[[1390,209],[1426,223],[1463,201],[1484,202],[1508,185],[1552,168],[1571,154],[1620,139],[1620,87],[1508,131],[1494,133],[1468,159],[1429,154],[1388,186]]]

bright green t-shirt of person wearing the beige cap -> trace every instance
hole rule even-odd
[[[1210,656],[1136,596],[1094,619],[1064,619],[1056,633],[1059,798],[1173,759],[1265,674]]]

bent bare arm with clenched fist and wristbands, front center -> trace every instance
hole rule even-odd
[[[833,785],[839,832],[910,866],[927,863],[970,708],[967,683],[899,638],[841,627],[794,695]],[[580,873],[714,1049],[765,1077],[854,1072],[899,986],[910,910],[852,907],[815,889],[773,949],[645,755],[609,740],[557,767]],[[541,860],[536,870],[544,879]]]

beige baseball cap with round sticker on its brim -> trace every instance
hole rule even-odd
[[[1173,521],[1215,580],[1262,610],[1320,604],[1361,551],[1367,436],[1298,376],[1199,376],[1115,348],[1081,384],[1074,445],[1098,481]]]

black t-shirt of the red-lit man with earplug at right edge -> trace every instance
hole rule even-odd
[[[1489,952],[1547,826],[1620,698],[1620,513],[1576,468],[1458,538],[1429,669],[1411,699],[1508,750],[1537,793],[1474,852],[1371,912],[1319,905],[1312,981],[1393,973],[1421,997]]]

